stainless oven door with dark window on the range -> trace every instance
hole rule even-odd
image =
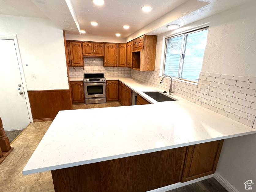
[[[106,97],[106,83],[84,83],[85,98]]]

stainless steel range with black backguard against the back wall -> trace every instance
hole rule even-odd
[[[106,103],[104,73],[84,73],[85,104]]]

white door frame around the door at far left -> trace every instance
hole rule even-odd
[[[27,109],[28,109],[29,121],[33,122],[32,112],[31,112],[30,103],[29,103],[29,99],[28,99],[27,83],[26,83],[26,79],[25,79],[25,75],[24,75],[24,70],[23,70],[23,65],[22,65],[22,60],[21,60],[21,53],[20,53],[20,49],[19,49],[17,35],[15,33],[0,33],[0,39],[13,40],[14,41],[14,47],[15,47],[15,50],[16,50],[18,66],[19,66],[20,74],[21,74],[21,81],[22,81],[23,89],[24,89],[25,101],[26,101],[26,105],[27,105]]]

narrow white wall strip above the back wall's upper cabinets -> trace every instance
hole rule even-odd
[[[98,42],[109,42],[109,43],[126,43],[124,38],[90,36],[88,34],[81,34],[81,35],[66,34],[66,40],[98,41]]]

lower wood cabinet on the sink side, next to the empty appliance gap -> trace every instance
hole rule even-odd
[[[120,81],[118,83],[118,97],[119,102],[123,106],[129,106],[132,104],[132,90]]]

